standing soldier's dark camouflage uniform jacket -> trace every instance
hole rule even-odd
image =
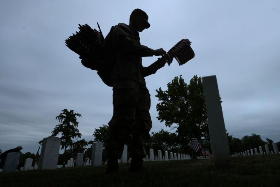
[[[139,33],[124,23],[116,25],[112,33],[112,52],[115,60],[111,79],[129,78],[145,84],[141,75],[142,58],[153,56],[153,49],[140,44]]]

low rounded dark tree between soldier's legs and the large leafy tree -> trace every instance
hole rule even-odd
[[[175,152],[175,150],[177,151],[181,148],[177,134],[163,129],[158,132],[152,132],[152,136],[145,147],[147,153],[149,153],[150,148],[169,152]]]

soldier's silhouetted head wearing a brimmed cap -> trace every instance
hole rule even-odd
[[[132,11],[129,17],[129,26],[138,32],[142,32],[144,29],[148,29],[150,27],[148,18],[149,17],[146,12],[136,8],[134,11]]]

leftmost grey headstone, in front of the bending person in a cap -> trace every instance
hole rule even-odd
[[[17,164],[19,159],[20,159],[20,153],[8,153],[2,172],[10,173],[10,172],[17,171]]]

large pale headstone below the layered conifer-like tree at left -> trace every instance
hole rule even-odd
[[[61,139],[50,136],[43,139],[38,169],[56,169]]]

